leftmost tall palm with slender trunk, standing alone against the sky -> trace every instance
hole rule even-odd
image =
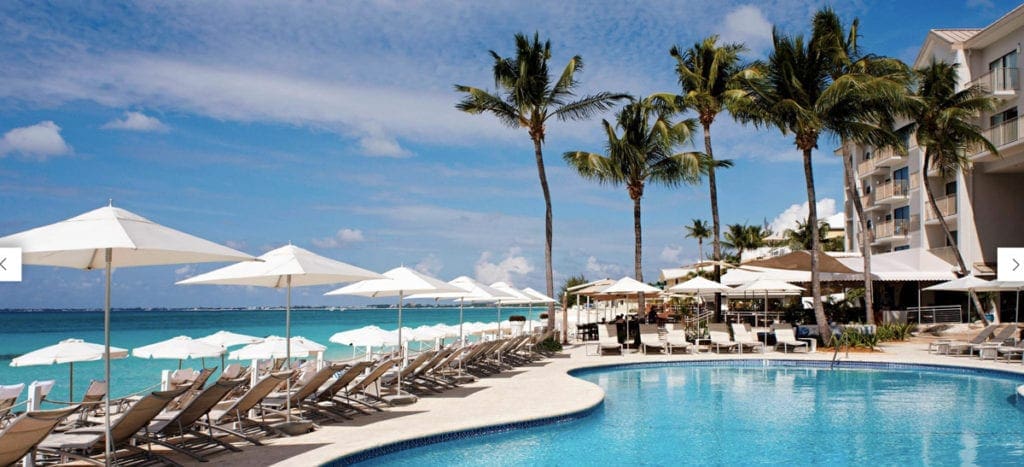
[[[540,35],[536,33],[532,40],[523,34],[515,35],[515,56],[503,57],[494,50],[490,51],[490,56],[494,58],[497,91],[492,93],[481,88],[457,84],[456,91],[466,95],[456,104],[456,109],[469,114],[493,114],[506,126],[525,128],[529,133],[529,138],[534,141],[541,190],[544,193],[544,268],[547,292],[551,296],[555,289],[551,268],[551,192],[548,188],[542,151],[548,120],[589,119],[607,111],[614,102],[627,96],[599,92],[577,97],[574,91],[579,82],[575,74],[583,70],[583,58],[580,55],[570,58],[557,80],[552,80],[548,74],[551,41],[542,43]],[[553,304],[548,305],[548,326],[550,329],[555,326]]]

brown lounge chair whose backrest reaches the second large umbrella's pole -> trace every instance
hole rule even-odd
[[[201,420],[198,423],[208,429],[233,434],[255,445],[261,445],[255,437],[256,434],[262,432],[264,435],[278,435],[281,432],[267,425],[262,418],[256,420],[249,417],[249,412],[260,405],[281,383],[291,377],[292,372],[290,371],[266,375],[242,396],[222,401],[214,407],[210,411],[207,422]],[[260,413],[262,414],[262,411]]]

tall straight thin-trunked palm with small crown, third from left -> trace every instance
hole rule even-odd
[[[711,198],[712,240],[715,264],[715,281],[722,280],[722,268],[717,261],[722,260],[722,237],[718,213],[718,180],[715,153],[712,151],[711,126],[723,110],[745,99],[746,94],[738,89],[737,77],[742,70],[739,54],[745,50],[743,44],[719,44],[718,36],[709,36],[683,50],[673,46],[669,54],[676,58],[676,75],[682,95],[674,96],[680,107],[693,109],[703,129],[705,154],[711,164],[708,167],[708,187]],[[731,165],[730,165],[731,166]],[[715,294],[715,316],[722,309],[722,294]]]

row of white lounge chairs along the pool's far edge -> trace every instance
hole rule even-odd
[[[625,354],[626,345],[618,342],[615,335],[615,325],[598,325],[597,349],[600,354]],[[731,335],[730,335],[731,330]],[[804,350],[810,351],[814,345],[809,340],[796,337],[792,327],[776,327],[775,349],[784,352]],[[733,323],[731,326],[712,324],[709,327],[708,339],[686,340],[683,330],[666,325],[662,332],[657,325],[640,325],[640,350],[644,353],[695,353],[699,349],[721,352],[765,352],[765,342],[750,331],[745,325]]]

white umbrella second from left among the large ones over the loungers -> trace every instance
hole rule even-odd
[[[294,245],[270,250],[260,255],[259,262],[242,262],[211,270],[178,282],[180,285],[210,284],[223,286],[256,286],[287,290],[285,299],[285,340],[292,337],[292,287],[322,286],[366,279],[381,278],[372,270],[356,267],[317,255]],[[285,346],[285,358],[291,359]],[[285,389],[292,390],[289,379]],[[292,421],[291,399],[285,400],[285,423]]]

